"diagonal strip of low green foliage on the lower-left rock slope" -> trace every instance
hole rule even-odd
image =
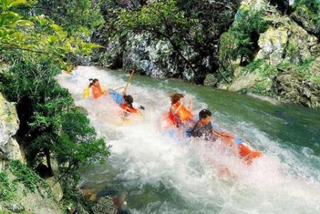
[[[23,183],[32,193],[38,190],[43,198],[53,198],[50,185],[20,161],[11,161],[9,170],[16,176],[16,180]]]

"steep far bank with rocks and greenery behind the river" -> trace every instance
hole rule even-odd
[[[158,11],[165,11],[163,5],[172,1],[163,1],[161,6],[156,1],[110,2],[105,1],[102,9],[108,27],[95,38],[105,46],[96,56],[99,66],[135,68],[155,78],[183,78],[214,88],[320,107],[318,1],[175,1],[176,13],[184,14],[186,21],[197,20],[183,34],[183,23],[171,16],[165,23],[148,22],[148,17],[161,17],[148,10],[158,6]],[[145,13],[146,20],[130,20],[128,16],[124,20],[128,26],[120,36],[113,36],[111,32],[126,22],[117,13],[106,11],[119,8]],[[135,30],[143,26],[159,28],[165,34],[174,29],[176,32],[168,36],[174,45],[180,44],[179,51],[166,37]]]

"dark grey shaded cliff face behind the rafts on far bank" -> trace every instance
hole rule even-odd
[[[117,1],[118,2],[118,1]],[[123,4],[105,4],[105,8],[139,8],[148,4],[147,1],[123,1]],[[152,1],[148,1],[152,2]],[[114,41],[108,38],[108,32],[99,32],[97,42],[105,46],[105,51],[97,59],[98,66],[108,68],[134,68],[138,73],[153,76],[156,78],[173,77],[183,78],[187,81],[203,83],[205,74],[215,72],[218,67],[217,54],[220,35],[232,24],[234,13],[237,10],[238,0],[232,1],[185,1],[177,0],[177,5],[185,11],[186,19],[188,14],[198,14],[200,20],[194,29],[190,30],[190,35],[181,35],[190,41],[181,47],[181,52],[194,69],[187,65],[185,60],[177,54],[169,41],[156,39],[150,34],[134,34],[127,36],[125,41]],[[216,11],[212,13],[212,11]],[[109,13],[110,14],[110,13]],[[108,13],[105,19],[109,19]],[[202,43],[198,43],[196,38],[192,38],[195,31],[202,32]],[[192,38],[192,39],[190,39]],[[104,40],[104,41],[103,41]],[[107,42],[105,42],[108,40]],[[194,41],[192,41],[194,40]]]

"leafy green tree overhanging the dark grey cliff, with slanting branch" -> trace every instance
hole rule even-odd
[[[186,19],[175,0],[150,1],[139,9],[115,9],[114,35],[119,38],[130,34],[151,34],[155,39],[170,42],[172,48],[182,61],[195,71],[192,62],[182,53],[183,46],[187,46],[187,36],[190,30],[198,22],[197,19]],[[202,39],[200,32],[194,31],[198,40]]]

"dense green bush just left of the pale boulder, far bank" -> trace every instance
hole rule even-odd
[[[263,19],[263,11],[240,9],[229,31],[220,38],[220,60],[247,58],[251,60],[255,42],[259,34],[267,30],[268,22]]]

